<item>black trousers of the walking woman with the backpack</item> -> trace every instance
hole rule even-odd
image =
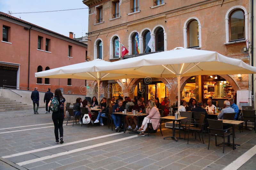
[[[59,130],[60,130],[60,137],[63,137],[63,120],[64,120],[64,113],[63,111],[52,112],[52,121],[54,123],[54,134],[55,139],[59,140]]]

